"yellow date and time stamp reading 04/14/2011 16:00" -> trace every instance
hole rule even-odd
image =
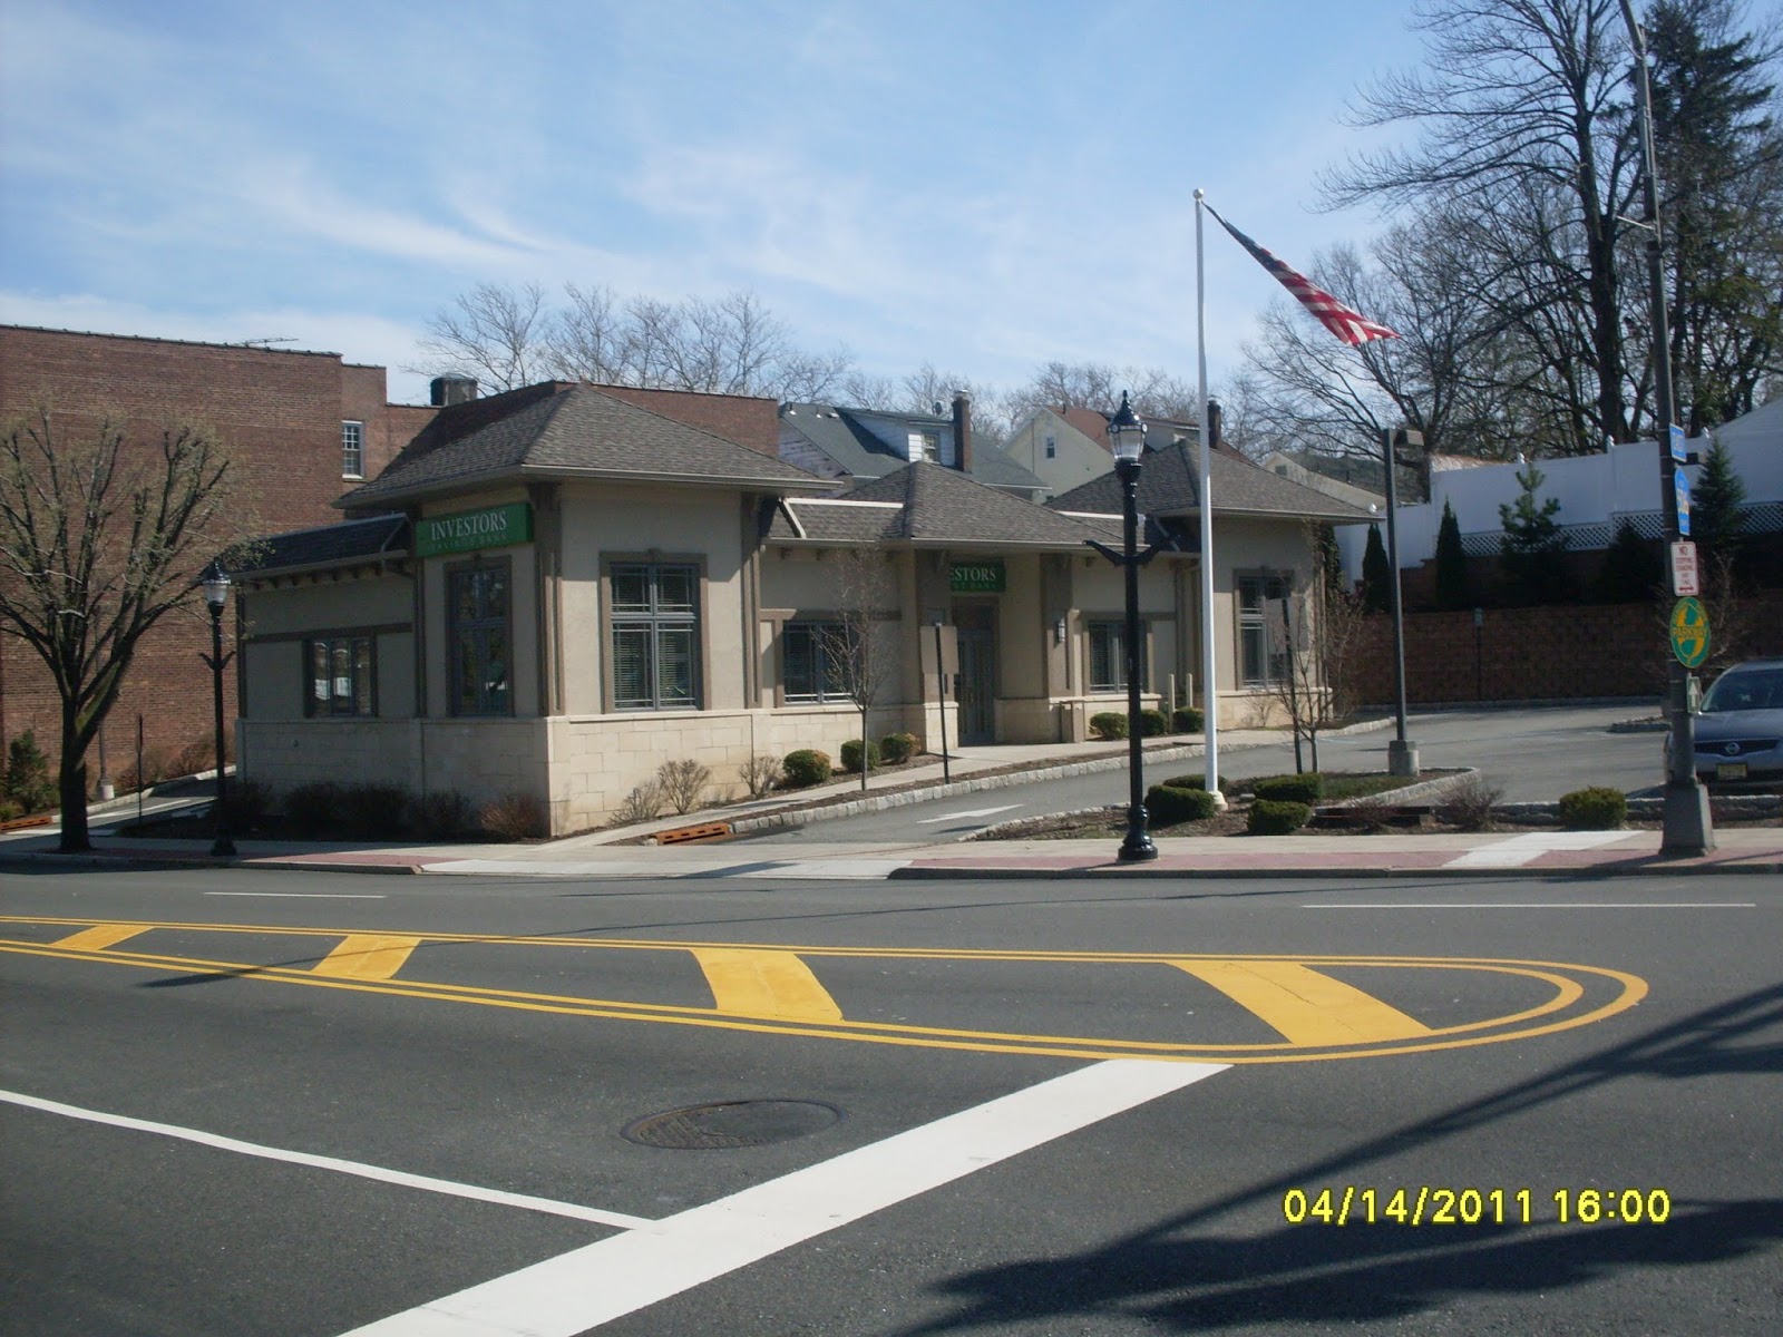
[[[1665,1189],[1403,1189],[1343,1184],[1289,1189],[1287,1225],[1665,1225]]]

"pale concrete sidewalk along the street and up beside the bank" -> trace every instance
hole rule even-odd
[[[1387,720],[1353,726],[1346,733],[1385,727]],[[1221,751],[1282,742],[1275,731],[1227,731]],[[1205,756],[1200,740],[1152,740],[1145,747],[1150,781],[1198,772]],[[1116,861],[1116,840],[1009,840],[920,845],[820,843],[788,847],[745,840],[701,840],[656,845],[651,838],[676,829],[726,824],[736,834],[786,825],[809,825],[829,816],[947,799],[1036,779],[1120,770],[1127,743],[1050,743],[1031,747],[974,747],[952,756],[943,779],[941,758],[868,777],[842,781],[686,816],[660,818],[613,831],[596,831],[537,845],[508,843],[300,843],[239,840],[237,856],[210,856],[207,840],[130,840],[103,834],[94,809],[94,852],[55,852],[57,829],[11,833],[0,838],[0,861],[36,868],[53,866],[244,866],[366,874],[435,874],[471,877],[574,879],[890,879],[890,877],[1441,877],[1441,875],[1617,875],[1706,872],[1783,874],[1783,827],[1717,829],[1717,849],[1697,859],[1660,856],[1656,831],[1514,829],[1478,834],[1294,834],[1294,836],[1159,836],[1159,857],[1148,863]],[[130,800],[109,808],[118,813]],[[128,813],[119,813],[127,816]]]

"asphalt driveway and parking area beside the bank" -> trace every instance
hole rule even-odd
[[[1553,802],[1590,784],[1626,793],[1658,792],[1664,781],[1664,733],[1610,733],[1610,726],[1640,715],[1631,706],[1555,706],[1541,710],[1439,711],[1412,715],[1407,742],[1426,770],[1475,767],[1503,790],[1505,802]],[[1393,726],[1319,738],[1319,770],[1387,770]],[[1307,768],[1312,758],[1307,756]],[[1200,774],[1202,761],[1152,761],[1146,783],[1166,775]],[[1220,770],[1236,779],[1280,775],[1294,770],[1291,743],[1221,749]],[[966,836],[995,822],[1045,813],[1070,813],[1127,802],[1127,772],[1105,770],[1070,779],[1036,781],[947,800],[890,808],[802,827],[749,836],[751,841],[797,845],[804,841],[934,841]]]

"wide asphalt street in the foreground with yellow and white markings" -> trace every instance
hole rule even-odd
[[[1783,1314],[1772,879],[70,872],[0,907],[12,1337]]]

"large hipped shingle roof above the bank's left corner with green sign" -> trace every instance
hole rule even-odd
[[[551,381],[442,410],[374,481],[335,504],[362,510],[494,481],[578,476],[767,492],[826,487],[802,469],[592,385]]]

